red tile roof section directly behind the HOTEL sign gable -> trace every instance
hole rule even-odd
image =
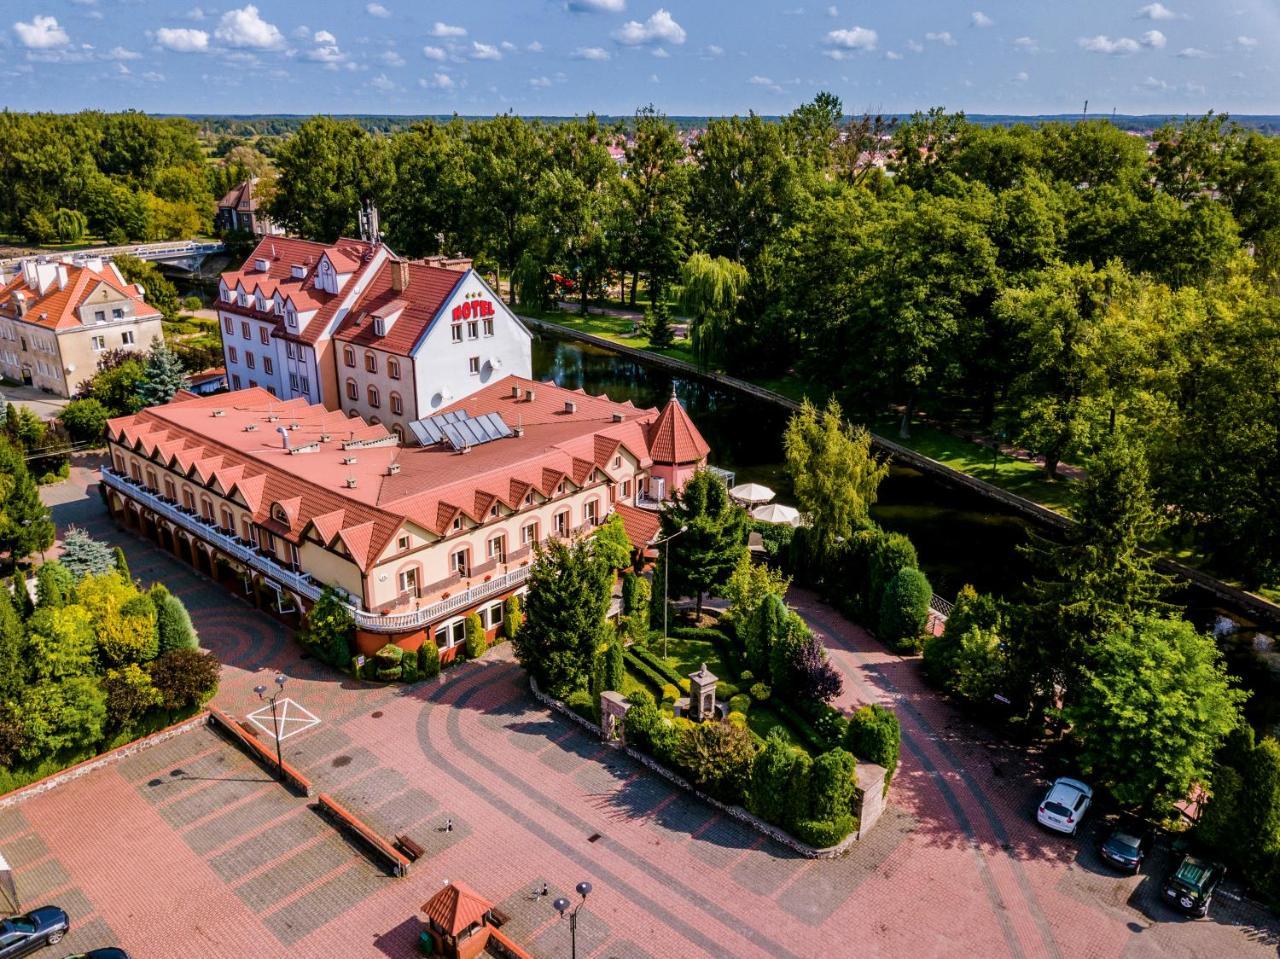
[[[420,262],[408,262],[407,266],[408,286],[393,289],[392,273],[396,264],[384,264],[338,325],[334,339],[408,356],[467,274]],[[372,318],[389,315],[396,303],[403,305],[403,310],[387,334],[379,337],[374,332]]]

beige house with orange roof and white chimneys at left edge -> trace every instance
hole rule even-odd
[[[0,373],[73,396],[106,351],[146,352],[164,335],[145,292],[99,257],[23,260],[0,282]]]

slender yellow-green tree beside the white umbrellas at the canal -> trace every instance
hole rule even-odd
[[[782,437],[787,474],[823,556],[869,522],[888,463],[872,453],[872,437],[845,421],[835,398],[818,410],[808,399]]]

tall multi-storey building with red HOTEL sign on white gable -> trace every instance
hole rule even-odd
[[[362,239],[262,239],[218,300],[230,388],[301,397],[412,440],[408,424],[532,371],[531,337],[468,259]]]

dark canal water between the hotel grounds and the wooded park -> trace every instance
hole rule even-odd
[[[640,407],[662,406],[675,387],[710,444],[713,465],[732,470],[739,483],[763,483],[778,494],[778,502],[794,502],[782,466],[782,431],[790,412],[781,406],[548,333],[534,335],[534,376]],[[1018,547],[1028,542],[1030,524],[1000,503],[918,470],[891,466],[872,516],[910,536],[938,595],[954,599],[965,584],[1009,599],[1024,594],[1029,574]],[[1219,622],[1224,611],[1204,594],[1183,590],[1171,599],[1184,606],[1199,629],[1217,625],[1224,630]],[[1247,707],[1252,723],[1280,731],[1280,653],[1249,629],[1222,635],[1220,645],[1229,671],[1253,691]]]

